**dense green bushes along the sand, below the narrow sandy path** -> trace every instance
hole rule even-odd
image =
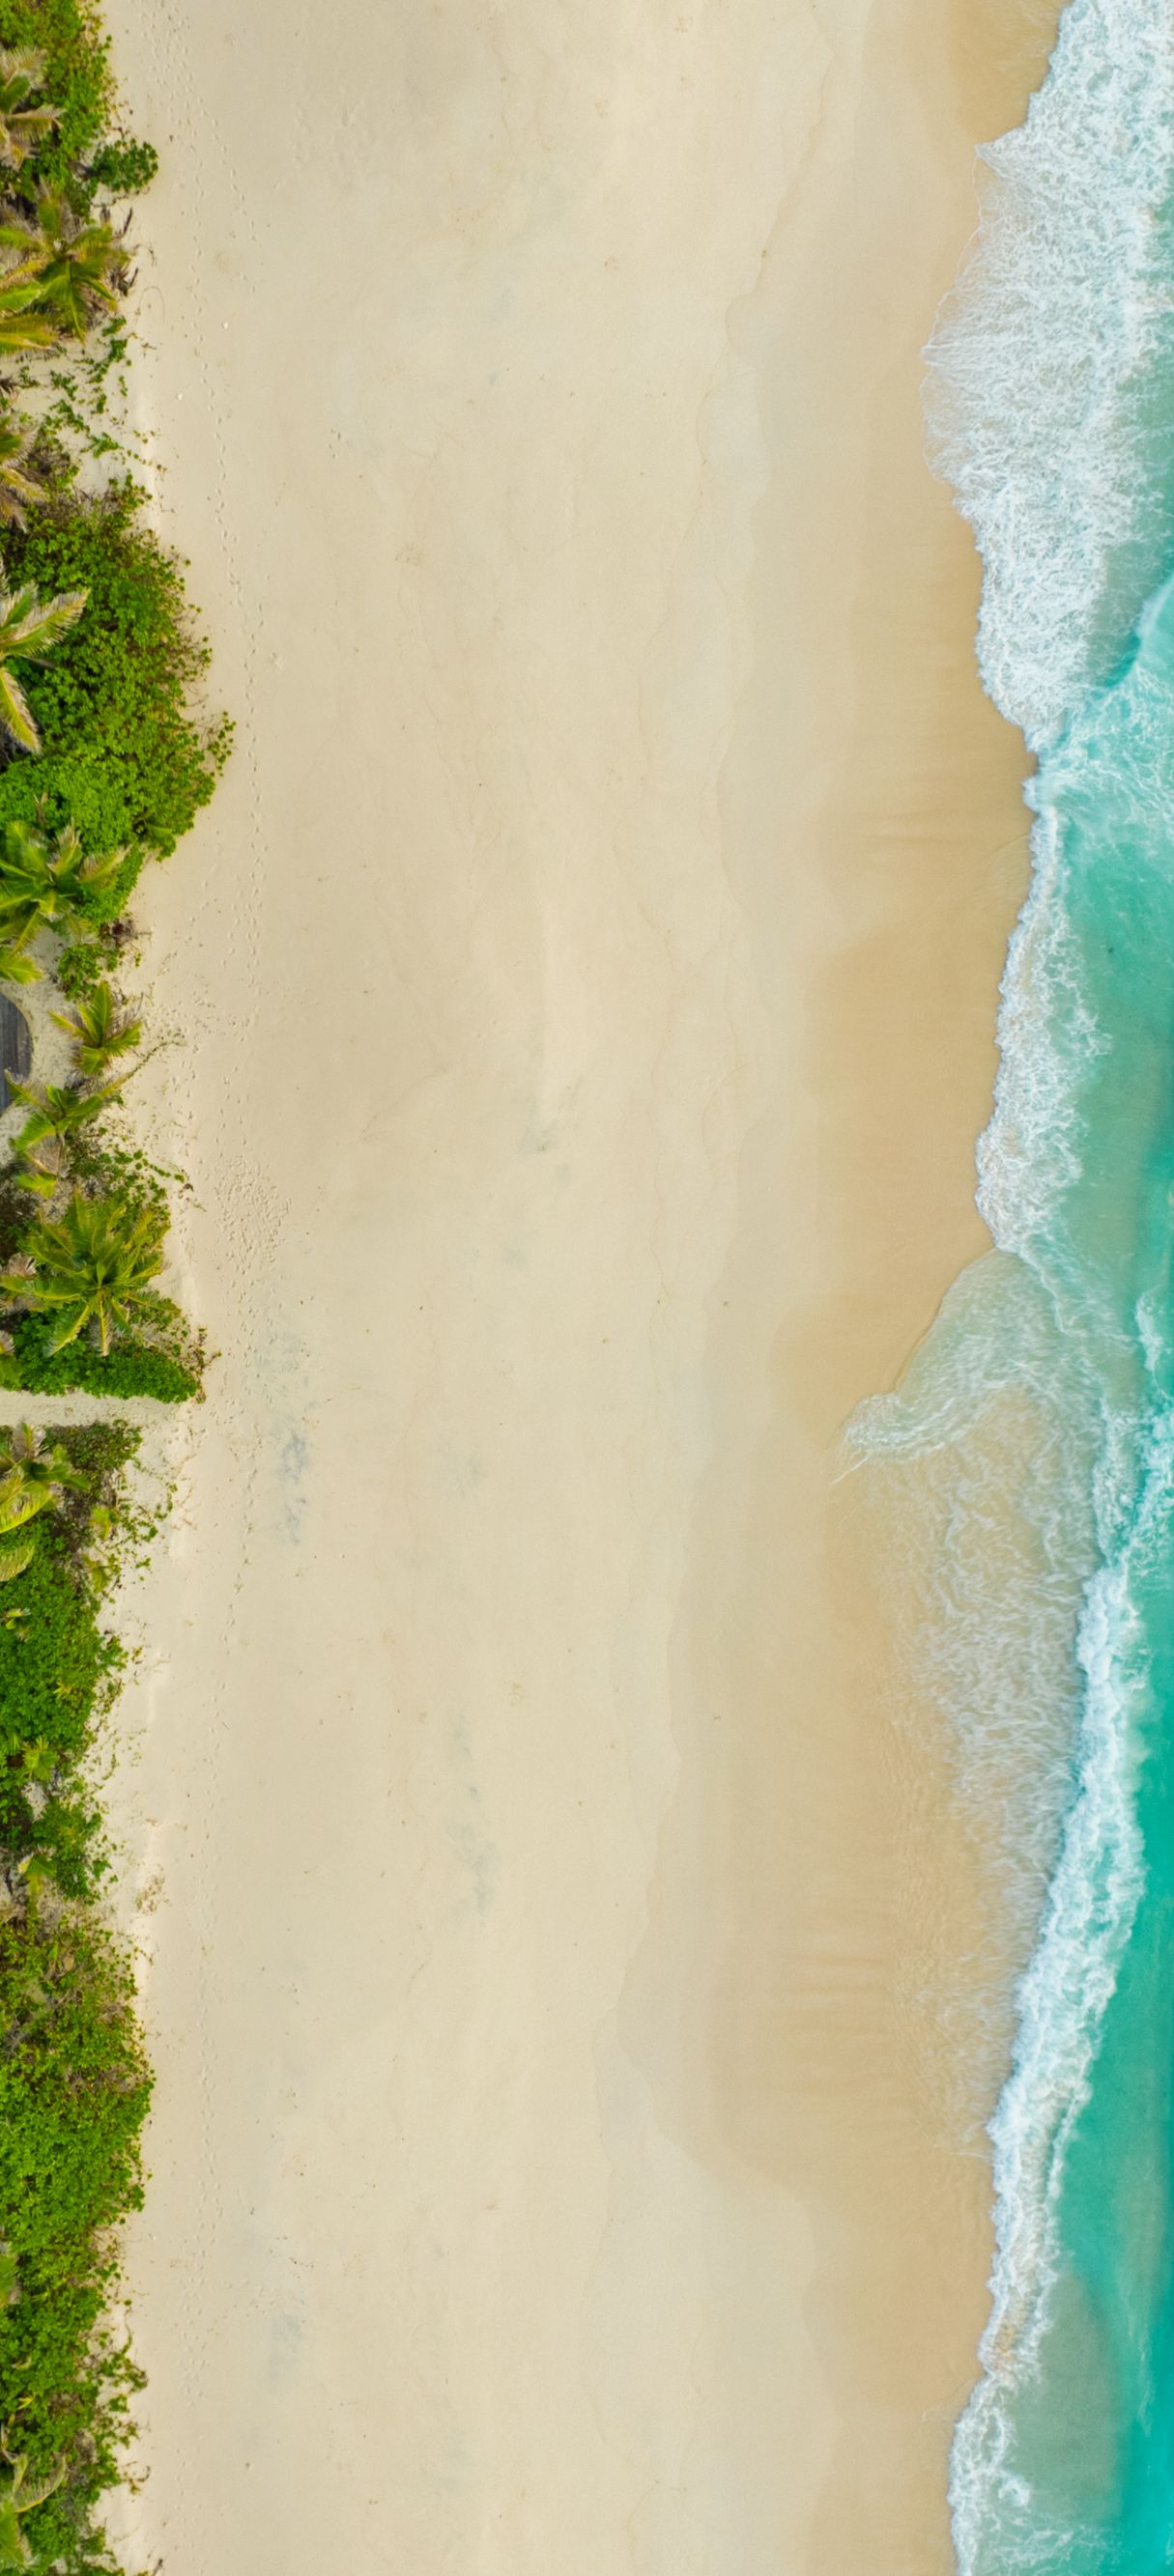
[[[0,1587],[0,2406],[33,2473],[39,2563],[111,2568],[95,2509],[118,2476],[139,2385],[111,2321],[116,2226],[139,2205],[149,2074],[85,1757],[124,1649],[100,1605],[149,1515],[126,1489],[136,1432],[57,1435],[70,1463],[31,1566]]]

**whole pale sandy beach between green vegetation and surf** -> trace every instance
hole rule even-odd
[[[971,1932],[829,1492],[978,1242],[1022,755],[917,350],[1045,13],[111,26],[239,726],[139,907],[221,1352],[129,1710],[142,2550],[935,2576]]]

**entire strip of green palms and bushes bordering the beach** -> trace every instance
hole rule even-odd
[[[124,1105],[152,1051],[129,904],[232,734],[116,428],[152,175],[88,0],[0,0],[0,1386],[31,1399],[0,1427],[0,2571],[59,2576],[121,2563],[103,2496],[142,2385],[118,2231],[152,2079],[95,1783],[111,1592],[160,1512],[108,1401],[203,1376],[160,1285],[183,1175]],[[39,1427],[67,1388],[103,1414]]]

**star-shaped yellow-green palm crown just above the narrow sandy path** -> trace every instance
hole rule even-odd
[[[0,1293],[13,1306],[57,1319],[49,1352],[64,1350],[85,1327],[108,1352],[111,1337],[152,1309],[165,1231],[162,1208],[75,1190],[64,1216],[41,1216],[31,1226],[28,1249],[0,1270]]]

